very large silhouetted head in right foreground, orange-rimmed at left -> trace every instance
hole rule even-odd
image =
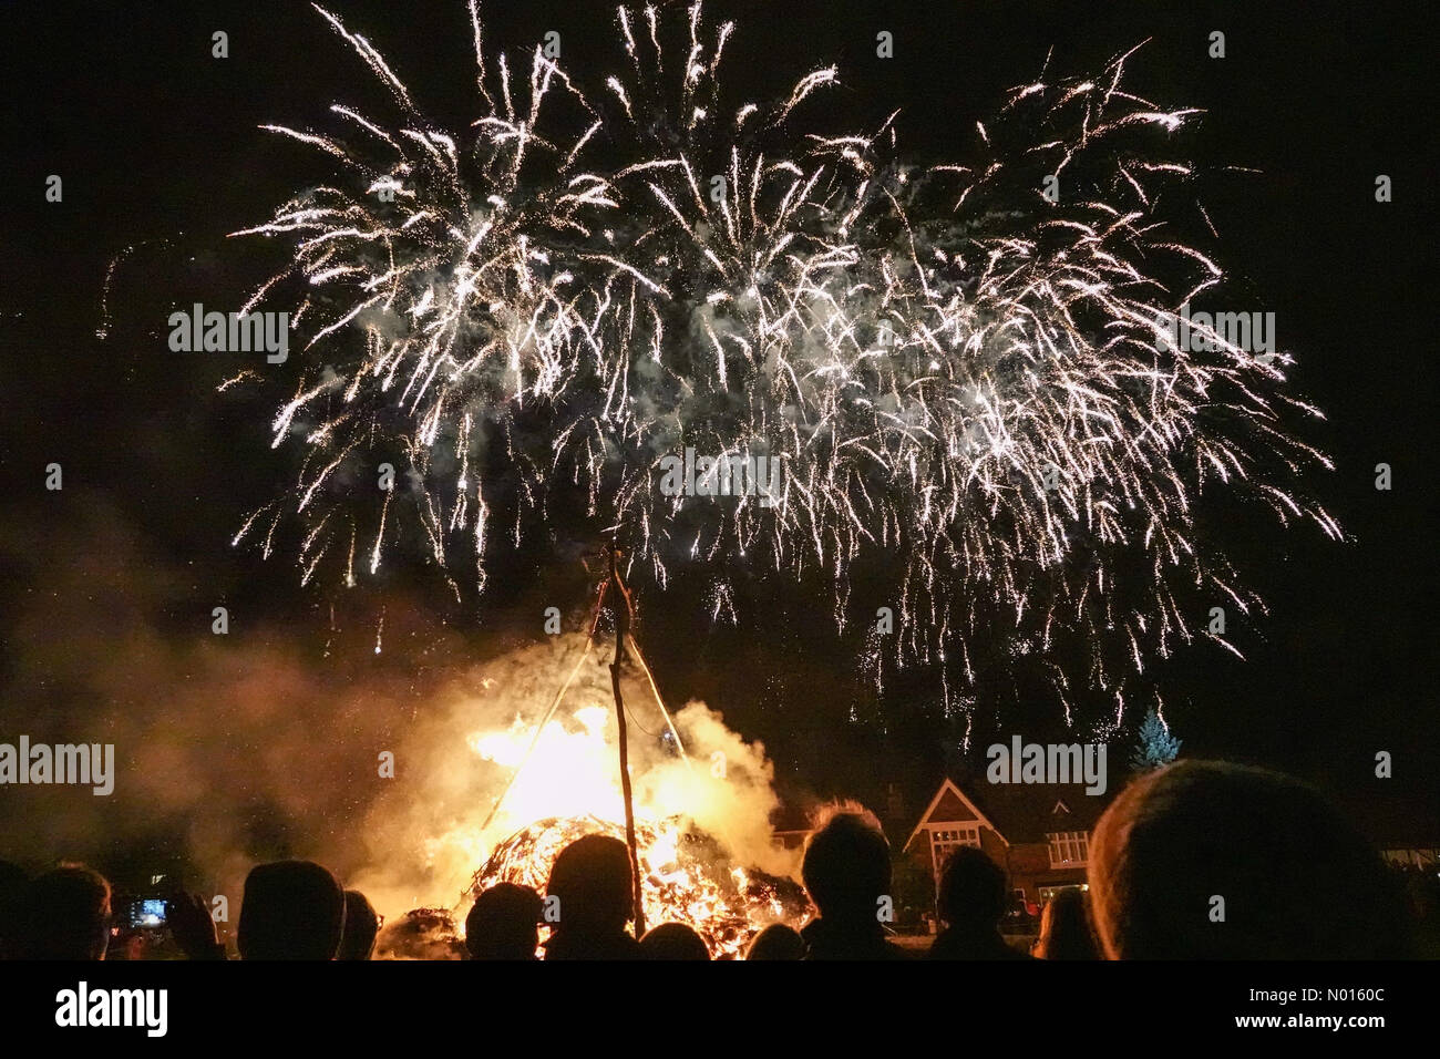
[[[1404,955],[1381,859],[1310,787],[1181,761],[1132,782],[1090,843],[1096,935],[1112,960]]]

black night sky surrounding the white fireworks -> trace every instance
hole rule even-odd
[[[331,7],[376,43],[441,127],[468,124],[474,79],[462,0]],[[1240,290],[1276,313],[1280,344],[1299,357],[1297,390],[1329,416],[1305,437],[1333,455],[1336,471],[1312,484],[1354,537],[1338,546],[1253,520],[1214,527],[1233,535],[1272,612],[1238,635],[1248,661],[1201,648],[1156,670],[1171,720],[1188,752],[1295,771],[1361,816],[1380,804],[1371,769],[1375,751],[1388,749],[1397,778],[1387,790],[1433,833],[1436,350],[1421,324],[1436,261],[1434,229],[1421,215],[1434,174],[1421,160],[1434,118],[1420,91],[1434,79],[1426,46],[1436,40],[1434,16],[1388,1],[1162,7],[747,0],[713,3],[707,13],[739,23],[727,53],[732,82],[778,91],[798,71],[838,62],[854,118],[845,124],[903,107],[903,146],[937,156],[959,153],[975,120],[1035,76],[1051,48],[1053,73],[1080,75],[1152,39],[1129,63],[1129,86],[1208,111],[1192,151],[1205,166],[1260,170],[1218,184],[1205,205]],[[576,69],[590,42],[609,49],[611,4],[491,0],[484,10],[492,46],[514,50],[554,29]],[[210,58],[216,29],[229,33],[229,59]],[[896,36],[893,61],[874,56],[880,29]],[[1227,35],[1224,61],[1205,56],[1212,29]],[[17,640],[12,618],[36,598],[78,592],[56,612],[109,607],[117,622],[128,620],[128,589],[96,594],[84,579],[55,575],[104,565],[107,545],[85,537],[86,504],[128,527],[132,555],[143,556],[131,576],[151,562],[157,578],[164,571],[163,602],[145,612],[160,635],[203,634],[213,599],[225,598],[232,612],[288,630],[338,684],[370,664],[359,656],[383,604],[397,630],[392,650],[406,650],[428,622],[415,620],[408,641],[396,601],[423,596],[423,575],[408,576],[402,563],[376,594],[346,601],[343,624],[354,635],[323,658],[328,599],[301,592],[284,559],[262,563],[228,548],[243,514],[289,468],[268,447],[264,409],[215,395],[233,359],[187,359],[164,344],[170,300],[222,303],[268,274],[269,259],[223,235],[317,180],[312,153],[256,125],[324,128],[331,102],[366,110],[382,102],[380,91],[310,6],[289,0],[22,0],[6,6],[3,36],[0,684],[33,647]],[[43,200],[50,173],[65,179],[62,205]],[[1378,173],[1394,179],[1395,202],[1375,203]],[[112,333],[99,341],[107,264],[132,243],[145,245],[117,274]],[[295,365],[292,357],[287,367]],[[65,467],[63,494],[43,490],[50,461]],[[1372,484],[1382,461],[1394,468],[1390,493]],[[96,553],[65,550],[75,548]],[[445,620],[456,643],[484,641],[497,627],[514,628],[517,615],[530,621],[546,598],[536,584],[550,591],[557,581],[573,591],[572,573],[513,571],[490,617]],[[763,738],[786,782],[873,790],[883,775],[920,792],[956,765],[953,733],[936,720],[924,687],[887,702],[884,736],[842,720],[844,705],[868,702],[868,690],[852,658],[827,640],[827,607],[792,599],[714,635],[698,609],[667,599],[649,611],[647,643],[665,690],[677,700],[704,697],[732,726]],[[63,684],[65,630],[53,637],[48,657]],[[32,706],[9,687],[0,736]],[[1053,715],[1053,705],[1037,703],[1018,730],[1044,738],[1040,719]]]

